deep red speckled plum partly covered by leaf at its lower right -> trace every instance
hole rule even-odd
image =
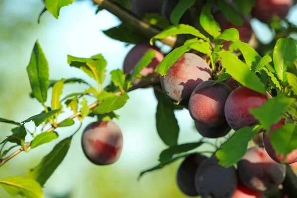
[[[267,92],[267,95],[269,93]],[[247,87],[236,88],[225,103],[225,117],[228,124],[235,131],[258,123],[258,120],[249,112],[250,108],[257,108],[267,101],[264,94]]]

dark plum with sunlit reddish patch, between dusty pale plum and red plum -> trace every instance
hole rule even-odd
[[[207,127],[216,127],[226,121],[225,102],[232,92],[228,85],[222,82],[214,83],[214,80],[200,83],[189,101],[191,117]]]

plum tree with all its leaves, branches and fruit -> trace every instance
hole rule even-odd
[[[49,11],[58,18],[60,8],[73,1],[46,0],[41,15]],[[293,0],[93,1],[99,5],[97,12],[106,9],[122,21],[103,33],[136,45],[110,74],[100,52],[91,57],[68,54],[68,64],[89,79],[49,80],[46,54],[36,41],[27,73],[30,96],[42,108],[22,122],[0,118],[15,125],[0,143],[0,165],[59,138],[57,128],[75,122],[80,127],[56,144],[26,177],[1,179],[7,193],[42,198],[42,187],[73,146],[72,137],[87,116],[94,121],[82,133],[86,158],[97,165],[115,163],[125,149],[125,131],[116,124],[115,111],[125,107],[130,91],[148,88],[158,100],[156,131],[167,148],[158,164],[140,177],[185,158],[176,182],[187,196],[296,198],[297,177],[285,165],[297,163],[297,45],[290,37],[297,28],[285,19]],[[269,45],[252,37],[252,17],[275,32]],[[164,46],[170,51],[161,50]],[[111,82],[104,87],[107,75]],[[62,98],[63,88],[73,83],[88,88]],[[182,134],[175,111],[184,107],[202,139],[179,144]],[[73,115],[62,119],[64,108]],[[30,133],[28,122],[38,127],[35,133]],[[214,150],[197,151],[202,145]]]

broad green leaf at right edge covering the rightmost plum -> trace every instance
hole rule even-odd
[[[282,153],[286,156],[297,148],[297,126],[293,123],[287,123],[281,126],[271,133],[270,140],[276,154]],[[282,163],[284,163],[284,160],[285,157]]]

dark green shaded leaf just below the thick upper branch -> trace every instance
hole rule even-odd
[[[111,39],[129,44],[138,44],[147,40],[145,35],[141,34],[133,26],[125,23],[102,32]]]

